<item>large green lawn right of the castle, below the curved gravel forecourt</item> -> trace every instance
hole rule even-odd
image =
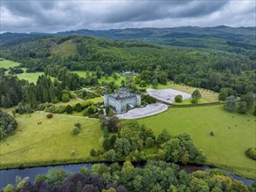
[[[207,163],[233,170],[256,179],[256,161],[246,157],[248,147],[255,147],[255,116],[226,112],[221,106],[170,109],[138,120],[159,134],[167,128],[171,134],[190,134],[195,145],[203,149]],[[213,131],[215,136],[210,136]]]

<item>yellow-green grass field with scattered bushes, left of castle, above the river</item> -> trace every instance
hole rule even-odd
[[[100,148],[99,120],[57,114],[46,119],[45,113],[32,113],[17,115],[17,121],[16,133],[0,141],[0,168],[81,161],[92,147]],[[81,133],[74,136],[71,130],[77,122],[82,124]]]

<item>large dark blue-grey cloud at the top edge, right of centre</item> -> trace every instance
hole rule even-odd
[[[221,9],[228,1],[142,1],[132,2],[109,13],[107,23],[150,21],[161,18],[201,17]]]

